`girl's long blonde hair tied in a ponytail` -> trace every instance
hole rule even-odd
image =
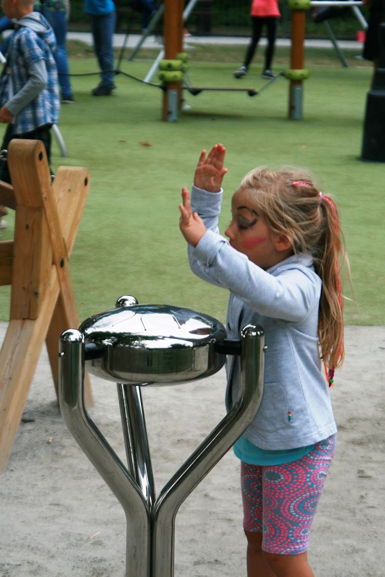
[[[267,226],[285,234],[294,253],[310,253],[322,280],[318,336],[321,358],[329,368],[343,364],[343,311],[339,271],[347,257],[338,212],[330,196],[320,193],[311,175],[281,168],[255,168],[241,188]]]

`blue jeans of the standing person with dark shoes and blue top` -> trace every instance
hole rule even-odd
[[[102,81],[100,86],[114,88],[114,49],[115,10],[101,16],[91,16],[91,30],[94,37],[94,50],[98,58]]]

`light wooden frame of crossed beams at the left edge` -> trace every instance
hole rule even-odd
[[[69,256],[90,183],[81,167],[60,167],[52,183],[38,140],[12,140],[8,164],[13,186],[0,181],[0,204],[16,216],[13,241],[0,242],[0,285],[11,285],[10,321],[0,350],[0,474],[44,341],[58,394],[59,338],[79,326]],[[92,404],[89,381],[86,386]]]

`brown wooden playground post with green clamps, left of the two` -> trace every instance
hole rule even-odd
[[[165,43],[165,58],[176,59],[183,51],[183,0],[165,0],[165,15],[163,16],[163,36]],[[180,82],[167,83],[163,93],[163,120],[170,120],[171,100],[176,99],[177,107],[181,103],[182,87]]]

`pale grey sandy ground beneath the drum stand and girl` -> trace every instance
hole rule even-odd
[[[309,558],[317,577],[384,577],[385,328],[347,327],[346,349],[331,392],[337,454]],[[92,377],[92,388],[91,417],[124,459],[115,385]],[[223,370],[143,389],[158,492],[223,417],[224,394]],[[0,477],[0,575],[123,577],[125,544],[122,507],[63,422],[44,350]],[[229,451],[178,511],[175,577],[245,575],[239,463]]]

